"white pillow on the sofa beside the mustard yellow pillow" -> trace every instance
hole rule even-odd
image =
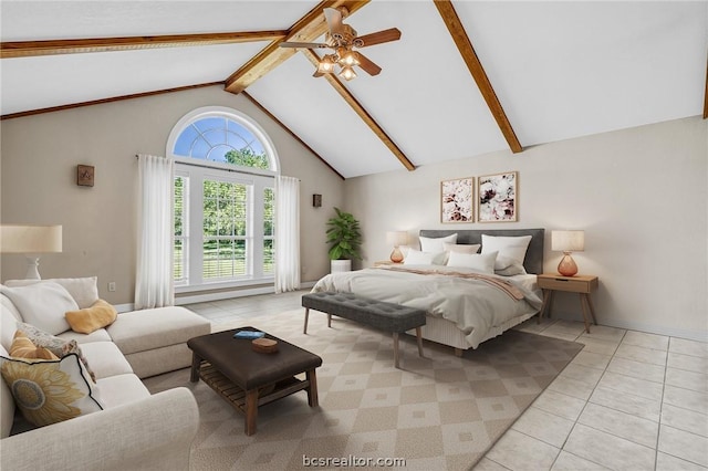
[[[0,291],[17,306],[24,322],[52,335],[71,328],[64,318],[66,311],[79,311],[79,305],[69,291],[59,283],[0,286]]]

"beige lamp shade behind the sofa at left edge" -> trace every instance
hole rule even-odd
[[[52,253],[61,251],[61,226],[0,226],[0,252],[2,253]]]

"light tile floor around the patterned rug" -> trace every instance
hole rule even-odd
[[[216,325],[300,307],[303,291],[191,304]],[[477,464],[485,470],[708,471],[708,344],[534,318],[585,345]]]

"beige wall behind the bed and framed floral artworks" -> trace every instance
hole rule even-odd
[[[419,229],[584,229],[581,273],[600,276],[598,322],[708,339],[708,122],[698,117],[348,179],[362,221],[364,265],[385,260],[385,232]],[[441,224],[440,180],[519,171],[519,222]],[[558,314],[580,320],[575,295]]]

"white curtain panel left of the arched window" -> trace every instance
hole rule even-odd
[[[135,308],[170,306],[173,282],[173,159],[138,155]]]

